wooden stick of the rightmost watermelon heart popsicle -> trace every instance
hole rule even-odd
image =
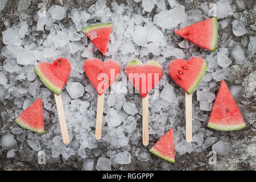
[[[192,94],[185,92],[186,106],[186,140],[192,142]]]

